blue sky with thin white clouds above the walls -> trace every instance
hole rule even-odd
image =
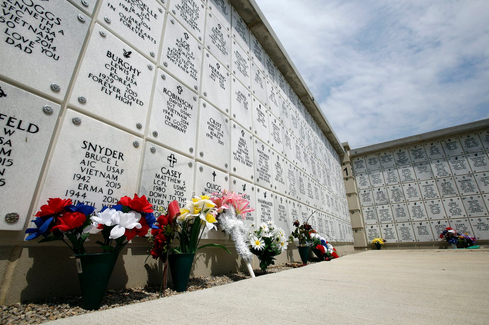
[[[341,142],[489,118],[488,0],[256,2]]]

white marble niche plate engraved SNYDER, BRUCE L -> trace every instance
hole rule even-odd
[[[75,124],[73,118],[81,123]],[[68,109],[39,206],[60,197],[100,211],[136,193],[142,147],[141,138]]]

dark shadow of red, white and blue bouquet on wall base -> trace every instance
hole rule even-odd
[[[90,249],[91,248],[91,249]],[[45,300],[54,297],[78,296],[80,295],[80,284],[76,271],[73,252],[69,248],[44,246],[25,247],[28,259],[22,259],[23,265],[16,267],[16,276],[22,276],[25,272],[25,285],[20,293],[21,302]],[[96,247],[87,247],[88,252],[98,252]],[[114,267],[108,288],[124,288],[128,282],[128,276],[124,267],[123,255],[127,250],[121,252]],[[21,285],[21,280],[14,283]]]

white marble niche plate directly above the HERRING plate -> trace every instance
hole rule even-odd
[[[205,48],[228,69],[231,67],[231,34],[208,12],[205,22]]]

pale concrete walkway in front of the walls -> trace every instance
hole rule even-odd
[[[53,324],[489,324],[489,250],[371,250]]]

